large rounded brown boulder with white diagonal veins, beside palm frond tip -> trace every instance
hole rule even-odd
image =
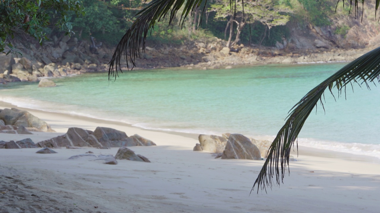
[[[241,134],[231,134],[228,138],[222,159],[261,160],[260,150],[250,139]]]

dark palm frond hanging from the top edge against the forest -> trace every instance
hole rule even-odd
[[[111,77],[116,78],[118,70],[122,72],[120,60],[123,58],[123,55],[127,61],[128,69],[130,65],[132,68],[135,67],[135,60],[140,57],[141,51],[144,52],[146,37],[149,30],[154,28],[156,21],[159,22],[164,19],[170,11],[168,25],[173,24],[177,11],[185,4],[184,10],[180,15],[180,22],[183,25],[185,18],[194,9],[203,5],[204,11],[206,2],[207,0],[152,0],[149,2],[136,13],[134,16],[136,18],[135,22],[133,22],[117,45],[114,55],[109,62],[108,80]]]

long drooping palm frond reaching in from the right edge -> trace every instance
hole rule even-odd
[[[302,126],[318,101],[323,106],[322,96],[326,89],[329,89],[332,94],[332,89],[336,88],[339,97],[342,94],[342,90],[344,89],[345,91],[348,84],[352,86],[352,82],[359,85],[365,84],[369,89],[369,83],[379,82],[379,75],[380,47],[360,56],[310,90],[289,111],[291,113],[287,117],[285,125],[277,133],[277,136],[269,147],[268,158],[253,184],[251,193],[256,185],[257,193],[259,189],[266,191],[266,186],[272,187],[274,176],[276,177],[277,185],[280,184],[280,181],[283,182],[285,168],[289,166],[289,155],[292,146],[294,146],[294,141],[296,141]],[[296,144],[298,149],[298,143]]]

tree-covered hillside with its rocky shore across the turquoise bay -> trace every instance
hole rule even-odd
[[[3,30],[0,47],[11,42],[9,47],[22,55],[9,48],[4,52],[12,54],[0,54],[3,81],[34,81],[42,76],[108,70],[116,45],[133,24],[136,12],[148,3],[82,0],[78,6],[72,1],[73,7],[63,8],[64,16],[58,16],[57,9],[47,9],[43,17],[37,17],[33,13],[44,6],[39,5],[41,1],[13,2],[11,6],[5,6],[5,2],[12,3],[2,2],[6,10],[0,13],[4,19],[0,27],[17,21],[20,28],[5,28],[13,32],[14,39]],[[49,2],[54,1],[44,0],[43,4]],[[17,10],[22,3],[29,4],[28,10]],[[377,47],[380,41],[380,24],[375,19],[374,4],[369,1],[364,4],[364,14],[361,7],[350,8],[348,1],[345,5],[342,1],[337,5],[336,0],[232,3],[231,9],[230,0],[208,0],[185,19],[180,19],[182,11],[178,11],[173,25],[168,26],[168,17],[155,22],[136,67],[215,69],[246,64],[351,61]],[[62,9],[56,3],[55,7]],[[37,33],[41,28],[42,32]],[[131,68],[122,63],[122,69]]]

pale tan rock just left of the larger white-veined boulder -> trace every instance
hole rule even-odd
[[[216,135],[199,135],[199,144],[203,151],[222,153],[226,147],[227,140]]]

